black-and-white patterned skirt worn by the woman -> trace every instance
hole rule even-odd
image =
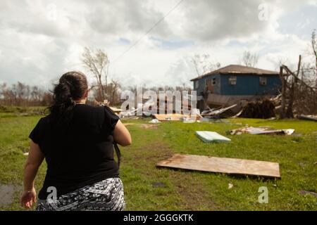
[[[61,195],[56,200],[37,201],[37,211],[122,211],[125,209],[120,178],[109,178]]]

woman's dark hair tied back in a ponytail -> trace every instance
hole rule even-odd
[[[73,108],[88,89],[87,78],[82,72],[66,72],[54,87],[53,103],[49,111],[57,124],[69,124]]]

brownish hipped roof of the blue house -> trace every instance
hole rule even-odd
[[[271,70],[262,70],[259,68],[251,68],[249,66],[244,65],[228,65],[224,68],[220,68],[218,70],[213,70],[212,72],[206,73],[205,75],[201,75],[190,81],[193,82],[197,79],[201,79],[204,77],[208,77],[209,75],[214,74],[235,74],[235,75],[278,75],[278,72],[271,71]]]

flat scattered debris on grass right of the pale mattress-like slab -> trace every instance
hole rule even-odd
[[[292,135],[294,129],[269,129],[268,127],[242,127],[238,129],[232,129],[231,135],[240,134],[285,134]]]

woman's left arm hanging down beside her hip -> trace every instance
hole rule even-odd
[[[24,189],[20,200],[21,206],[30,208],[36,203],[36,191],[34,187],[37,170],[44,160],[44,154],[39,149],[39,145],[31,141],[30,152],[24,168]]]

